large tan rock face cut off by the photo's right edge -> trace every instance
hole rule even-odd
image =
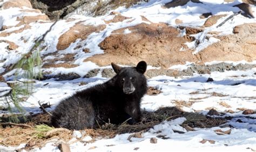
[[[253,61],[256,60],[256,24],[243,24],[234,27],[234,35],[221,37],[221,41],[199,52],[203,62]]]

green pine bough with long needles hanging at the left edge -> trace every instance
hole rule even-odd
[[[44,42],[44,38],[46,34],[48,34],[52,27],[57,23],[58,19],[50,26],[50,29],[46,31],[41,37],[35,40],[35,44],[31,47],[31,49],[23,54],[21,59],[17,61],[17,63],[13,64],[9,68],[7,68],[3,73],[0,75],[4,75],[12,70],[16,70],[15,78],[10,83],[11,91],[4,96],[1,97],[2,101],[5,101],[8,105],[8,110],[12,114],[14,110],[11,108],[11,103],[16,107],[19,113],[22,114],[25,120],[25,110],[20,105],[20,102],[25,101],[29,98],[29,96],[33,93],[33,79],[40,79],[42,78],[42,59],[40,57],[40,51],[42,50],[42,45]],[[22,74],[21,74],[22,73]],[[25,81],[20,81],[18,78],[24,78]],[[17,116],[11,116],[9,118],[10,122],[19,122]]]

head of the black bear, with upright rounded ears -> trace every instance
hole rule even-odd
[[[145,61],[140,61],[136,67],[120,67],[111,63],[114,72],[117,73],[115,83],[123,89],[125,94],[140,92],[146,88],[146,78],[143,75],[147,69]]]

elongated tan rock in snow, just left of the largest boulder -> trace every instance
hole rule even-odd
[[[83,25],[82,23],[77,23],[75,26],[71,27],[69,31],[62,34],[59,37],[57,44],[57,50],[65,50],[69,45],[75,42],[77,39],[86,39],[92,32],[99,32],[105,29],[106,25]]]

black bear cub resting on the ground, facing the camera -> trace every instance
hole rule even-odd
[[[146,62],[140,61],[136,67],[111,65],[116,72],[112,79],[59,103],[51,116],[52,126],[79,130],[106,122],[120,124],[129,118],[130,124],[140,121],[140,100],[147,91]]]

